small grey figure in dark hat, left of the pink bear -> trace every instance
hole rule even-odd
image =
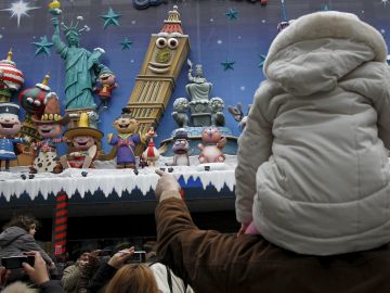
[[[190,166],[188,135],[184,129],[178,129],[173,137],[173,162],[167,166]]]

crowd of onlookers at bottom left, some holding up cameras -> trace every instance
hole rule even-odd
[[[193,292],[146,245],[147,251],[128,243],[109,250],[86,247],[76,262],[55,264],[34,239],[37,225],[32,216],[18,215],[0,234],[1,292]]]

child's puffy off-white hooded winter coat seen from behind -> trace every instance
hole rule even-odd
[[[238,141],[236,216],[270,242],[332,255],[390,242],[390,71],[355,15],[302,16],[271,44]]]

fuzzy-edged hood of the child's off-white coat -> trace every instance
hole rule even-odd
[[[296,95],[328,91],[368,61],[386,62],[384,37],[354,14],[316,12],[291,23],[271,44],[264,75]]]

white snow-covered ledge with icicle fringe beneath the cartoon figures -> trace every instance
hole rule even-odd
[[[171,157],[161,157],[157,167],[164,167],[168,170],[169,166],[165,164],[169,164],[171,161]],[[235,186],[235,155],[226,155],[226,161],[223,164],[199,165],[196,156],[191,157],[191,166],[172,167],[171,174],[177,179],[182,177],[185,183],[190,178],[199,179],[204,189],[212,184],[217,191],[220,191],[224,186],[233,191]],[[139,189],[145,195],[148,191],[154,190],[158,180],[154,168],[140,168],[139,174],[135,175],[132,169],[116,169],[113,161],[98,161],[95,166],[95,169],[66,169],[60,175],[36,174],[32,179],[28,178],[26,167],[12,168],[10,173],[1,171],[0,195],[9,201],[13,195],[20,198],[21,194],[27,192],[34,200],[39,193],[47,199],[50,193],[56,194],[64,191],[72,198],[78,191],[83,198],[87,192],[94,193],[101,190],[106,196],[114,191],[121,196],[123,191],[131,192],[134,189]],[[205,170],[205,166],[209,166],[210,170]]]

